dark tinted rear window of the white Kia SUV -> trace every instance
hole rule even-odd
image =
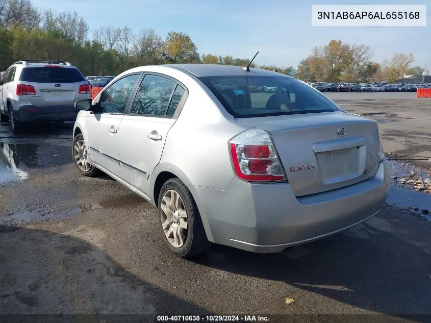
[[[85,78],[77,68],[27,67],[22,69],[19,80],[36,83],[75,83],[85,81]]]

